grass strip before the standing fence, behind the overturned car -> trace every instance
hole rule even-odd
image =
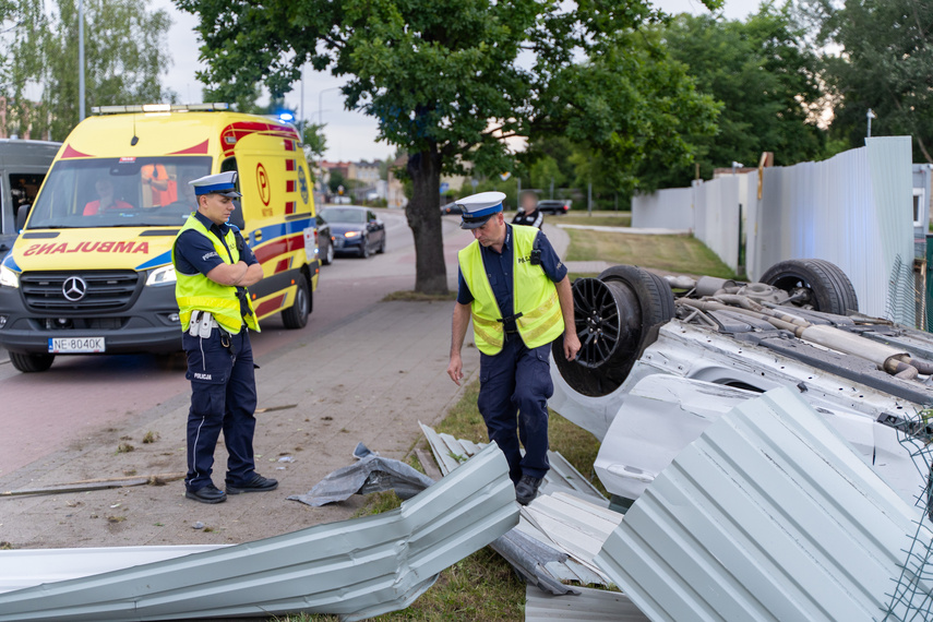
[[[722,261],[693,236],[639,236],[614,231],[566,229],[567,261],[606,261],[675,274],[735,278]]]

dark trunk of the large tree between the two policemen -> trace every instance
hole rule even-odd
[[[441,229],[441,154],[436,147],[411,154],[412,193],[405,215],[415,235],[415,291],[446,294],[444,239]]]

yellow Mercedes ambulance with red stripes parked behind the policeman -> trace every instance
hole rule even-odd
[[[62,143],[0,263],[0,347],[23,372],[59,355],[181,350],[171,246],[189,181],[238,171],[230,223],[263,266],[260,320],[308,322],[318,286],[308,163],[295,128],[225,104],[94,108]]]

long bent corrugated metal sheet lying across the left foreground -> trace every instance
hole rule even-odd
[[[0,620],[169,620],[403,609],[518,519],[490,446],[399,510],[0,595]]]

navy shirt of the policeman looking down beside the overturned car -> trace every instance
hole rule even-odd
[[[486,268],[486,276],[489,278],[489,285],[492,287],[492,295],[495,297],[495,302],[499,304],[499,310],[503,318],[513,315],[514,304],[512,297],[512,271],[514,261],[514,243],[512,239],[512,225],[505,226],[505,243],[502,246],[502,252],[497,253],[492,249],[488,249],[480,244],[479,253],[482,258],[482,266]],[[541,251],[541,270],[548,275],[548,278],[554,283],[560,283],[567,275],[567,267],[561,263],[558,253],[554,252],[554,247],[545,234],[538,234],[537,247]],[[469,304],[473,302],[474,296],[464,279],[463,271],[458,271],[457,275],[457,302],[460,304]],[[506,332],[515,332],[515,321],[505,323]]]

